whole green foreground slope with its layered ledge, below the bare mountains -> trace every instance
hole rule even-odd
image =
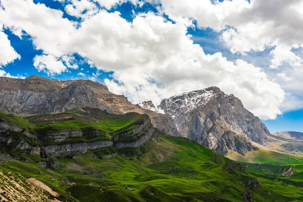
[[[22,195],[23,189],[38,184],[48,192],[37,195],[42,198],[38,201],[303,200],[301,159],[292,157],[289,165],[282,165],[284,160],[279,158],[260,160],[271,165],[238,163],[196,141],[157,129],[143,144],[117,146],[146,135],[147,132],[133,132],[140,128],[145,131],[143,126],[150,131],[153,126],[144,117],[147,116],[113,115],[90,108],[32,117],[2,113],[0,173],[13,176],[18,185],[8,184],[0,195],[7,198],[7,190]],[[119,134],[129,135],[118,137]],[[98,147],[103,145],[100,141],[113,144]],[[82,150],[91,142],[97,143],[92,149]],[[69,144],[73,146],[68,147]],[[34,155],[25,145],[38,146],[40,151],[55,145],[67,150]],[[17,189],[18,186],[24,188]]]

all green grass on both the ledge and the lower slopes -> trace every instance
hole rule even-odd
[[[65,115],[69,115],[67,119],[56,118]],[[110,139],[142,124],[144,116],[136,113],[112,115],[90,109],[24,119],[1,114],[4,121],[37,131],[44,144]],[[55,142],[49,135],[62,130],[81,131],[83,135],[71,136],[63,142]],[[40,144],[18,132],[2,135]],[[71,201],[243,201],[244,190],[252,193],[254,201],[303,200],[302,159],[262,148],[251,151],[246,157],[229,154],[230,158],[242,161],[240,163],[186,138],[162,134],[158,142],[158,135],[155,132],[155,139],[140,148],[108,147],[48,159],[13,148],[1,148],[0,153],[10,154],[12,159],[0,163],[0,171],[35,177]],[[110,154],[116,156],[107,158]],[[62,163],[58,170],[44,169],[37,164],[54,161]],[[294,175],[282,176],[290,168]],[[257,184],[255,188],[254,184],[248,185],[253,178],[258,180],[260,188]],[[76,185],[60,184],[62,180]],[[131,190],[125,189],[126,185]]]

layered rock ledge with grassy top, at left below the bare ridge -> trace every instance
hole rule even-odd
[[[75,112],[81,113],[82,116],[75,114]],[[118,149],[137,148],[147,143],[154,136],[154,126],[151,124],[149,117],[137,113],[113,115],[100,109],[83,108],[72,110],[69,113],[28,117],[27,119],[31,123],[37,123],[38,126],[42,124],[43,126],[32,129],[35,132],[34,134],[29,133],[23,126],[6,120],[8,116],[0,116],[0,143],[10,149],[25,150],[30,154],[40,155],[42,158],[81,154],[113,146]],[[21,120],[20,117],[10,117]],[[81,120],[76,119],[76,117],[80,117]],[[70,120],[76,121],[76,123],[85,127],[56,128],[52,126],[52,123],[61,122],[61,125],[64,125],[64,123],[69,123]],[[91,121],[97,123],[105,120],[115,120],[114,122],[118,125],[119,122],[125,124],[125,121],[132,121],[129,122],[129,125],[113,131],[111,135],[102,129],[89,125]],[[32,125],[32,127],[34,126]]]

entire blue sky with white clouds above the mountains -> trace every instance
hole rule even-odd
[[[0,76],[90,79],[131,102],[218,86],[303,132],[303,0],[1,0]]]

